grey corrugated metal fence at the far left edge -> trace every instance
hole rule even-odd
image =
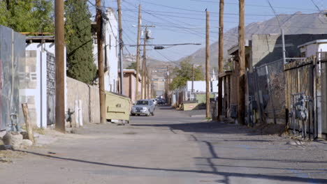
[[[0,26],[0,40],[2,86],[0,130],[8,130],[16,127],[14,124],[19,121],[17,118],[22,112],[19,105],[19,78],[24,75],[19,73],[18,67],[20,63],[24,63],[25,36],[8,27]]]

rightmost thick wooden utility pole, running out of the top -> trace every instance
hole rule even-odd
[[[244,124],[245,111],[245,10],[244,1],[240,0],[240,26],[238,28],[238,62],[239,62],[239,84],[238,84],[238,123]]]

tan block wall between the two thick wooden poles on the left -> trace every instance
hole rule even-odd
[[[83,124],[100,122],[99,88],[67,77],[67,110],[74,111],[75,100],[82,100]],[[72,121],[74,124],[75,113]]]

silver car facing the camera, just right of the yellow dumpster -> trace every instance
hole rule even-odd
[[[154,116],[155,105],[153,100],[138,100],[136,105],[131,108],[131,115]]]

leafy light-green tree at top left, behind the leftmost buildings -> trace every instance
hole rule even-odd
[[[52,7],[48,0],[0,0],[0,24],[17,32],[53,32]]]

